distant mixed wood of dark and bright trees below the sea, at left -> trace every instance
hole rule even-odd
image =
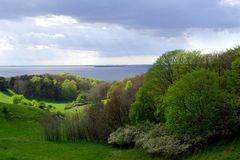
[[[97,80],[71,74],[19,76],[6,79],[8,88],[28,98],[73,100],[78,93],[87,92]]]

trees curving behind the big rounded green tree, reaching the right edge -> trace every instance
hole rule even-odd
[[[159,112],[162,97],[168,87],[185,74],[205,68],[224,76],[231,68],[232,62],[240,57],[240,47],[224,53],[202,55],[200,52],[171,51],[159,57],[146,73],[145,81],[136,94],[136,101],[130,110],[132,122],[161,121],[164,112]],[[226,87],[221,84],[221,87]],[[156,112],[158,110],[158,112]]]

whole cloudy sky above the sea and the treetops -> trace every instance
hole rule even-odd
[[[0,66],[152,64],[240,44],[240,0],[0,0]]]

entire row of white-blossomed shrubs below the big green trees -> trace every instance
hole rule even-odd
[[[188,141],[190,140],[188,139]],[[192,145],[184,142],[171,134],[162,124],[127,125],[118,128],[108,138],[108,143],[116,147],[135,146],[147,153],[161,154],[166,157],[173,157],[186,152]]]

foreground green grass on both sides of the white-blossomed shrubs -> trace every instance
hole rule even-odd
[[[4,99],[6,95],[3,97],[3,94],[1,94],[0,97]],[[10,120],[5,118],[3,108],[7,108],[12,116]],[[110,146],[86,141],[78,143],[47,142],[42,138],[38,123],[42,114],[43,111],[33,107],[0,103],[1,160],[154,159],[136,150],[114,149]],[[240,140],[221,141],[182,159],[237,160],[240,159]]]

